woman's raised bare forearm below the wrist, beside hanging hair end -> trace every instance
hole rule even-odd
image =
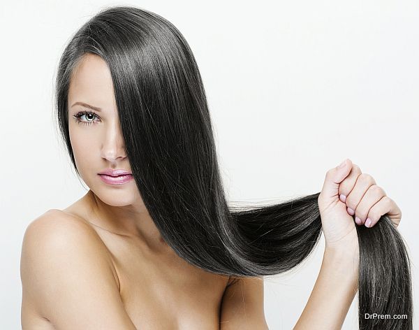
[[[294,330],[341,329],[358,291],[359,258],[353,251],[326,247],[313,292]]]

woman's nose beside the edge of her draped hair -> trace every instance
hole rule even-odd
[[[118,121],[105,128],[105,138],[101,148],[101,157],[109,162],[122,161],[126,158],[124,138]]]

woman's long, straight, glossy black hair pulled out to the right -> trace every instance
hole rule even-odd
[[[196,60],[176,27],[148,10],[103,8],[61,56],[57,120],[77,173],[67,96],[73,70],[89,53],[109,66],[133,177],[179,257],[212,273],[252,277],[289,271],[309,256],[321,237],[320,193],[268,206],[228,206]],[[410,260],[399,231],[386,216],[356,229],[360,329],[412,329]],[[362,317],[372,312],[408,319]]]

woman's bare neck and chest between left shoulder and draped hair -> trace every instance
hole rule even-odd
[[[89,192],[63,211],[88,222],[109,250],[126,312],[137,329],[196,322],[196,329],[219,329],[219,312],[228,277],[188,264],[163,242],[149,247],[142,238],[115,234],[92,213]],[[195,320],[195,321],[193,321]],[[180,326],[179,329],[186,328]],[[191,327],[192,328],[192,327]]]

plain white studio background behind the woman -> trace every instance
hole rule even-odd
[[[418,306],[417,1],[13,1],[0,5],[1,329],[20,329],[27,225],[86,192],[52,122],[59,56],[116,4],[166,17],[191,45],[231,201],[320,192],[346,157],[375,178],[402,209]],[[293,273],[265,280],[270,329],[297,322],[323,248],[322,236]],[[358,296],[343,329],[358,329],[357,308]]]

